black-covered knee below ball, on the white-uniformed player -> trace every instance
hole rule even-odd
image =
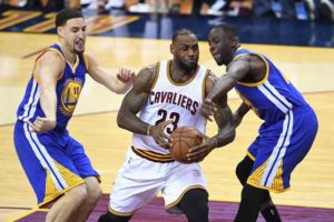
[[[180,210],[189,222],[208,221],[208,193],[203,189],[193,189],[185,193],[179,202]]]

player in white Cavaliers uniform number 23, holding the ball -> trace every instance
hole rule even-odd
[[[194,163],[173,160],[166,148],[175,129],[189,125],[205,134],[206,119],[200,115],[200,108],[215,75],[197,63],[199,50],[194,32],[176,31],[170,52],[173,60],[138,73],[122,101],[118,125],[134,133],[132,144],[114,183],[108,212],[99,222],[129,221],[158,192],[167,212],[183,212],[190,222],[208,221],[208,193],[198,162],[234,140],[232,112],[227,97],[220,98],[215,114],[219,133],[205,137],[200,152],[191,159]]]

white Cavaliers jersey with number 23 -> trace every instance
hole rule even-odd
[[[179,127],[194,127],[205,134],[206,119],[200,114],[205,98],[205,81],[208,69],[198,65],[196,74],[187,82],[174,82],[169,73],[170,61],[158,63],[155,83],[141,108],[140,119],[150,125],[157,125],[166,120],[173,120],[165,129],[170,134]],[[132,147],[167,154],[169,151],[159,147],[151,135],[132,135]]]

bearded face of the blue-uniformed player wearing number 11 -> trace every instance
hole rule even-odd
[[[82,53],[86,42],[86,23],[82,18],[70,19],[62,29],[65,44],[71,52]]]

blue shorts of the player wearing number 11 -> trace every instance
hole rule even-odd
[[[67,130],[61,133],[49,131],[38,134],[29,131],[28,123],[17,121],[13,138],[18,157],[39,205],[85,183],[85,178],[99,178],[84,147]]]

